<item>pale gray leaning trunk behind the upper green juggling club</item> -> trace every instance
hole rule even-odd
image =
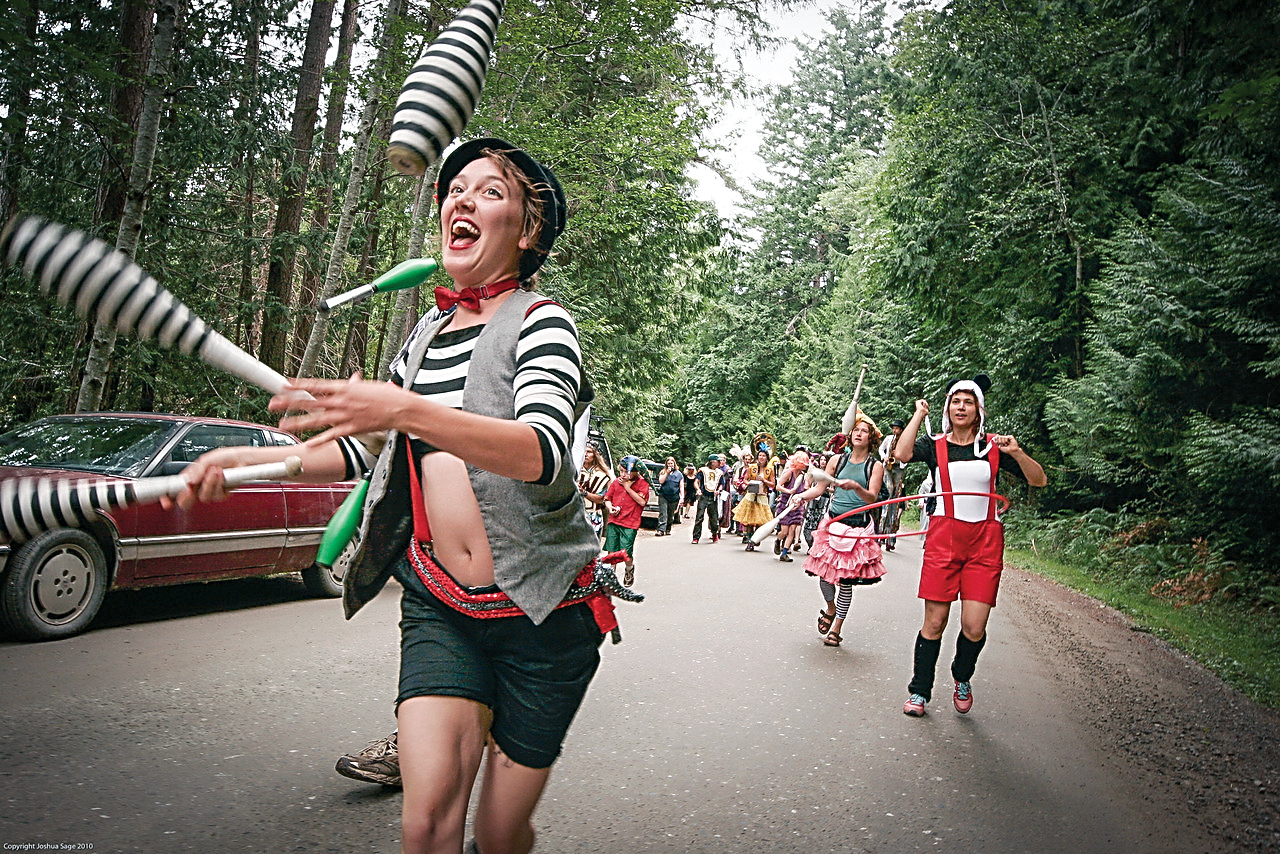
[[[347,257],[347,245],[351,241],[351,228],[356,218],[356,206],[360,202],[360,193],[365,183],[365,170],[369,166],[369,142],[374,132],[374,122],[378,119],[379,101],[381,100],[381,79],[387,73],[388,56],[394,42],[394,22],[401,15],[403,0],[387,0],[387,10],[383,13],[383,26],[379,35],[378,58],[369,74],[369,91],[365,96],[365,110],[360,117],[360,131],[356,134],[356,147],[351,154],[351,177],[347,179],[347,195],[342,202],[342,214],[338,218],[338,228],[334,230],[333,246],[329,250],[329,268],[325,273],[324,291],[321,298],[338,293],[342,284],[342,265]],[[315,325],[307,338],[307,348],[298,366],[300,376],[310,376],[320,359],[320,350],[324,346],[325,332],[328,332],[329,318],[325,312],[315,312]]]

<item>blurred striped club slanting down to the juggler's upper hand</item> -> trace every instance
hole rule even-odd
[[[15,216],[0,234],[0,257],[86,320],[195,353],[273,394],[284,391],[283,375],[210,329],[129,256],[97,238],[38,216]]]

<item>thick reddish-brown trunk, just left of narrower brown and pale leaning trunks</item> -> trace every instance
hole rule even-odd
[[[302,201],[311,168],[311,137],[316,131],[316,110],[324,82],[324,56],[329,51],[334,0],[314,0],[307,41],[302,49],[298,95],[293,102],[292,151],[284,164],[280,204],[271,232],[271,262],[262,301],[262,348],[259,359],[275,370],[284,370],[284,343],[289,337],[289,310],[293,306],[293,261],[297,257]]]

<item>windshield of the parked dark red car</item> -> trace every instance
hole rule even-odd
[[[0,465],[131,478],[177,428],[161,419],[45,419],[0,435]]]

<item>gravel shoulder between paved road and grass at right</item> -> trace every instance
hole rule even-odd
[[[1198,823],[1212,850],[1280,851],[1280,713],[1042,576],[1006,567],[1001,604],[1041,635],[1041,663],[1148,802]]]

